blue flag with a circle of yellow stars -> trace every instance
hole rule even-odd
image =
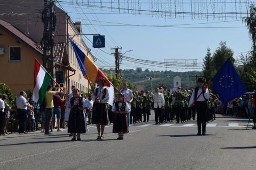
[[[224,104],[247,92],[230,58],[212,78],[212,83]]]

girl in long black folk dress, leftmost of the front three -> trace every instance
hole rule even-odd
[[[72,141],[80,141],[80,134],[85,133],[84,111],[83,111],[83,99],[80,97],[79,89],[73,89],[74,96],[70,99],[70,115],[68,119],[68,133],[73,134]]]

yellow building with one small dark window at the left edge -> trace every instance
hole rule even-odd
[[[33,89],[34,60],[42,62],[42,57],[43,51],[32,40],[0,20],[0,82],[8,85],[15,95]]]

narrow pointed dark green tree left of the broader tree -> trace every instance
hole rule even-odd
[[[204,57],[204,65],[203,65],[203,73],[204,77],[209,81],[213,73],[215,72],[215,69],[212,67],[212,56],[211,56],[211,49],[207,48],[207,54]]]

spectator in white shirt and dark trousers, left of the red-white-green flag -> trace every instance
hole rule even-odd
[[[16,99],[16,106],[18,112],[18,122],[19,122],[19,133],[26,133],[25,132],[25,121],[27,116],[27,107],[31,107],[27,102],[25,91],[20,91],[20,96]]]

